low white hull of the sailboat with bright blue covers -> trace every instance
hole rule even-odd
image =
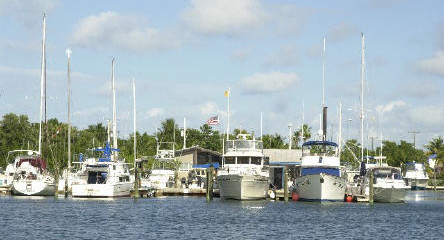
[[[73,197],[127,197],[134,183],[72,184]]]

